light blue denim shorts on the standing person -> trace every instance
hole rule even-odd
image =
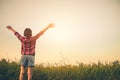
[[[20,59],[20,65],[24,67],[34,67],[35,56],[22,55]]]

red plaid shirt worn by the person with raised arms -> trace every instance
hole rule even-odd
[[[35,55],[36,39],[34,37],[26,38],[15,32],[17,38],[21,41],[21,54],[22,55]]]

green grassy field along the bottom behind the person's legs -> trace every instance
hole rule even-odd
[[[25,73],[24,80],[27,80]],[[17,62],[0,60],[0,80],[18,80],[19,65]],[[120,61],[103,64],[78,63],[78,65],[36,65],[33,80],[120,80]]]

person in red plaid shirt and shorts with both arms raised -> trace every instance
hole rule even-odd
[[[37,35],[32,36],[32,30],[30,28],[26,28],[24,30],[24,36],[21,36],[18,32],[16,32],[12,26],[7,26],[9,30],[11,30],[15,36],[21,41],[21,59],[20,59],[20,76],[19,80],[23,80],[23,76],[25,73],[25,68],[27,67],[28,80],[32,80],[33,75],[33,67],[35,62],[35,45],[36,40],[49,28],[54,27],[54,24],[49,24],[45,29],[40,31]]]

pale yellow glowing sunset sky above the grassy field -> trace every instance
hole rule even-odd
[[[0,0],[0,59],[19,61],[21,43],[11,25],[33,36],[35,63],[76,64],[120,60],[120,0]]]

